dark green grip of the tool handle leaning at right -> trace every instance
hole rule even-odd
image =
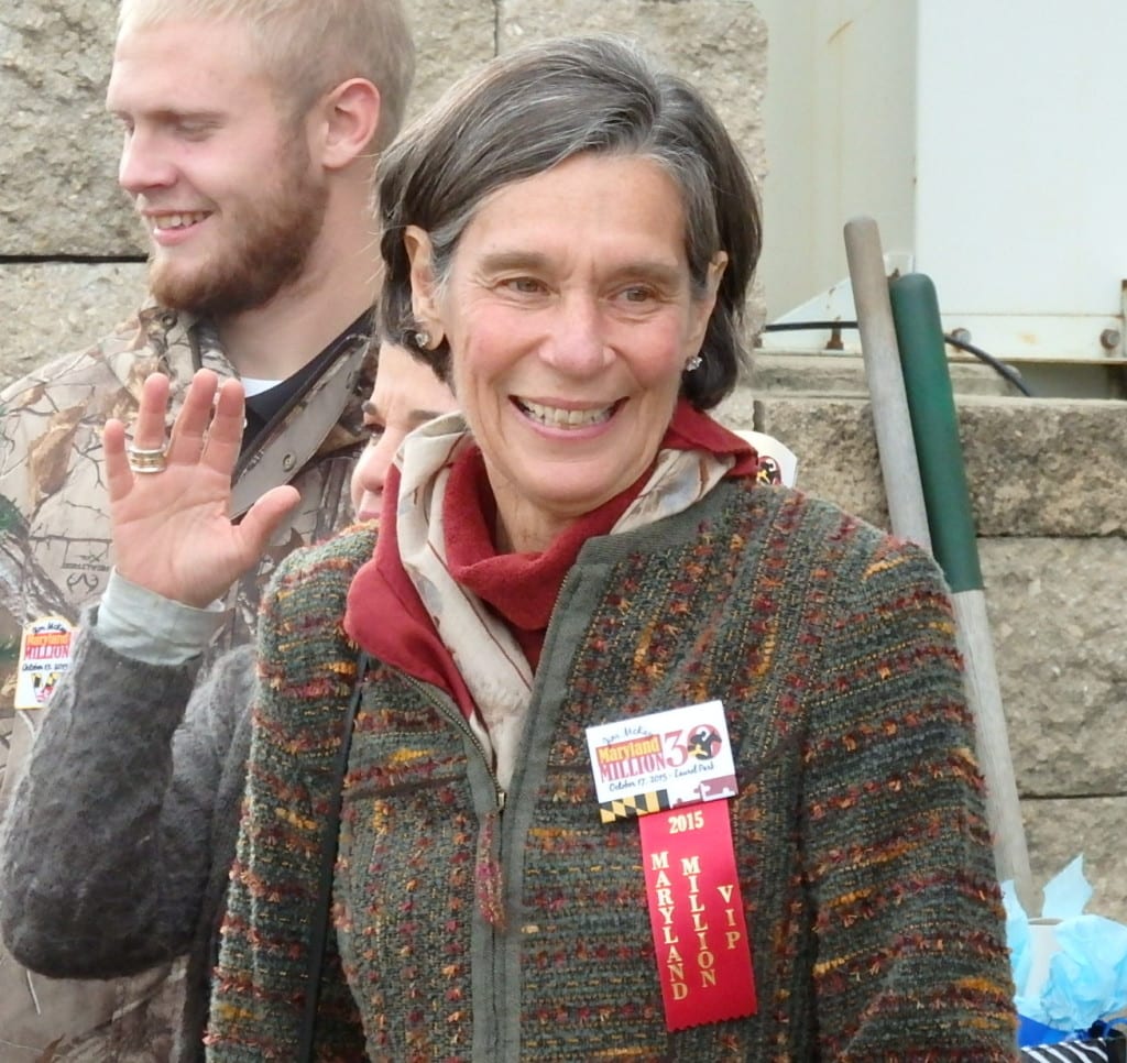
[[[922,273],[889,284],[931,548],[952,593],[980,591],[978,542],[935,285]]]

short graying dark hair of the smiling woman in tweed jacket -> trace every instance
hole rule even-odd
[[[429,233],[441,285],[490,195],[584,152],[651,159],[673,178],[696,294],[707,290],[709,264],[727,253],[703,362],[682,384],[698,409],[716,406],[746,356],[744,303],[762,246],[758,203],[739,149],[696,89],[619,37],[561,37],[500,56],[454,86],[388,149],[378,200],[384,333],[449,379],[449,345],[426,349],[411,312],[406,228]]]

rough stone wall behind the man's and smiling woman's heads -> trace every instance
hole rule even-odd
[[[310,0],[316,2],[316,0]],[[494,55],[614,30],[703,86],[763,172],[766,29],[749,0],[406,0],[411,113]],[[116,0],[0,5],[0,383],[123,320],[144,294],[144,240],[116,185],[106,115]]]

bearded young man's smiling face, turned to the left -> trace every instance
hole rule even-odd
[[[118,180],[148,231],[159,302],[222,317],[302,275],[325,177],[238,19],[126,30],[106,106],[124,130]]]

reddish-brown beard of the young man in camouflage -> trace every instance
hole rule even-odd
[[[212,319],[254,310],[296,281],[325,223],[328,188],[309,176],[304,144],[279,160],[273,187],[242,201],[223,219],[223,242],[195,269],[171,259],[149,264],[149,287],[157,301]]]

